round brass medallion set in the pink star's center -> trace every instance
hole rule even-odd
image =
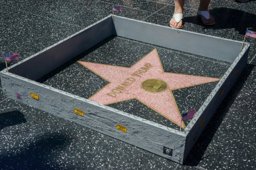
[[[163,80],[148,79],[141,83],[141,87],[148,92],[163,92],[168,88],[168,84]]]

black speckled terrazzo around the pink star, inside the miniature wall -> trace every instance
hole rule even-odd
[[[165,72],[221,78],[230,66],[230,63],[227,62],[111,36],[42,77],[38,82],[88,99],[106,86],[108,81],[77,61],[131,67],[154,48],[158,51]],[[113,74],[118,74],[118,72],[113,72]],[[173,95],[180,112],[188,111],[193,107],[196,110],[199,109],[216,84],[217,82],[212,82],[173,90]],[[161,105],[161,101],[159,104]],[[136,99],[108,106],[167,127],[179,129],[178,125]],[[185,121],[185,125],[188,123],[189,121]]]

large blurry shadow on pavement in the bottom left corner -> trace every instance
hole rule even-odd
[[[55,132],[32,140],[22,147],[3,150],[0,169],[63,169],[56,160],[60,160],[61,150],[71,143],[69,136]]]

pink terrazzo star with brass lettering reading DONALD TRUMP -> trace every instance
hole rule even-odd
[[[130,99],[137,99],[178,126],[181,114],[172,90],[219,81],[219,78],[164,72],[156,48],[130,68],[78,61],[109,83],[89,99],[108,105]],[[159,79],[168,84],[165,91],[154,93],[144,90],[141,83],[147,79]]]

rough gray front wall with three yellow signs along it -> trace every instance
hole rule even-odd
[[[182,163],[186,136],[175,133],[158,124],[116,112],[107,106],[100,106],[92,101],[42,85],[35,81],[19,78],[12,74],[0,73],[4,94],[11,99],[52,113],[87,128],[112,136],[138,146],[160,156]],[[21,99],[17,98],[17,92]],[[30,97],[30,92],[38,94],[39,100]],[[74,108],[82,110],[83,116],[74,113]],[[127,128],[127,132],[116,128],[117,124]],[[177,142],[178,141],[178,142]],[[163,153],[163,148],[173,149],[173,156]]]

